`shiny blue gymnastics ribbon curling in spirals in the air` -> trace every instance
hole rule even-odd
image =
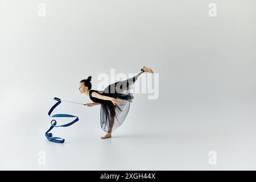
[[[57,121],[55,119],[52,119],[51,121],[51,127],[49,128],[48,131],[46,131],[46,138],[50,141],[50,142],[55,142],[55,143],[64,143],[65,139],[63,138],[59,138],[59,137],[52,137],[52,133],[49,133],[49,131],[51,131],[53,129],[53,127],[67,127],[67,126],[71,126],[73,125],[75,122],[79,121],[79,118],[75,115],[69,115],[69,114],[54,114],[51,116],[52,111],[55,109],[55,107],[57,107],[60,103],[61,100],[60,98],[54,97],[53,100],[56,100],[57,103],[55,105],[52,106],[52,108],[49,110],[48,115],[49,117],[65,117],[65,118],[76,118],[74,121],[67,123],[65,125],[60,125],[60,126],[56,126],[57,125]]]

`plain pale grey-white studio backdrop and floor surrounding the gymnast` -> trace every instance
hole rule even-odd
[[[256,169],[255,1],[0,2],[0,169]],[[90,102],[80,80],[142,65],[159,97],[135,93],[112,139],[100,106],[67,103],[53,113],[80,121],[44,137],[53,97]]]

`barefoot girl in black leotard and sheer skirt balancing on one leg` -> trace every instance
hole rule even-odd
[[[101,139],[111,138],[112,132],[125,121],[130,109],[130,102],[134,98],[129,89],[143,72],[153,73],[152,69],[143,66],[137,75],[124,81],[114,82],[107,86],[104,91],[91,89],[91,76],[80,81],[80,92],[89,96],[90,100],[93,101],[93,103],[84,105],[88,107],[101,105],[100,123],[101,128],[106,132],[106,135]]]

